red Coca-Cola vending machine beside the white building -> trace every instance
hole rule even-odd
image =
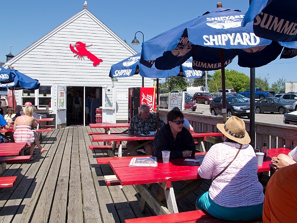
[[[129,88],[128,122],[131,122],[133,116],[138,115],[141,104],[149,105],[151,112],[156,111],[155,95],[154,88]]]

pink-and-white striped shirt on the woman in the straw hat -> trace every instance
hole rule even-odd
[[[213,179],[231,162],[240,144],[219,143],[211,147],[198,169],[203,179]],[[257,177],[257,158],[250,145],[243,145],[236,159],[213,182],[210,198],[223,207],[243,207],[263,202],[263,187]]]

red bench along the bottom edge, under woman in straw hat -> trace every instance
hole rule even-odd
[[[247,220],[247,221],[232,221],[232,223],[242,222],[242,223],[253,223],[262,221],[262,217]],[[186,223],[186,222],[196,222],[196,223],[230,223],[229,220],[221,220],[213,217],[209,213],[204,213],[201,210],[196,211],[186,211],[175,214],[165,214],[165,215],[157,215],[151,217],[140,217],[133,219],[126,219],[125,223],[138,223],[138,222],[154,222],[154,223],[163,223],[163,222],[178,222],[178,223]]]

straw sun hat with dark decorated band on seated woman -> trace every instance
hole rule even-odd
[[[217,128],[236,143],[249,144],[251,142],[245,122],[236,116],[231,116],[225,124],[217,124]]]

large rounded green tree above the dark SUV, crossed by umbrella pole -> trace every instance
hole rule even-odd
[[[209,84],[209,88],[213,89],[214,87],[213,84],[216,83],[218,85],[218,89],[221,89],[222,88],[221,70],[216,70],[212,77],[213,77],[213,80],[216,80],[216,81],[215,82],[210,81],[211,83]],[[238,72],[236,70],[225,69],[225,79],[226,79],[226,88],[227,89],[233,88],[236,92],[245,91],[247,88],[250,87],[250,78],[244,73]],[[221,81],[220,84],[218,80]]]

